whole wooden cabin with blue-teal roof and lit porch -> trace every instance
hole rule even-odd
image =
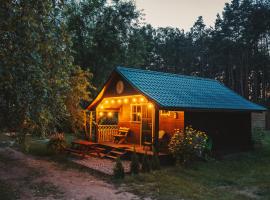
[[[216,80],[117,67],[86,111],[86,131],[98,143],[113,144],[126,127],[126,144],[158,146],[161,134],[168,142],[176,129],[192,125],[223,150],[250,147],[251,113],[265,108]]]

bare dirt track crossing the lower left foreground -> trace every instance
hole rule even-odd
[[[15,199],[141,199],[88,172],[63,167],[11,148],[0,148],[1,186],[2,190],[5,186]],[[12,198],[0,196],[0,199]]]

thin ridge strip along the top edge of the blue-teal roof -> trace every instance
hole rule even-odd
[[[168,73],[168,72],[160,72],[155,70],[146,70],[146,69],[139,69],[139,68],[133,68],[133,67],[124,67],[124,66],[117,66],[117,69],[124,69],[124,70],[130,70],[130,71],[136,71],[139,73],[151,73],[151,74],[157,74],[157,75],[163,75],[163,76],[176,76],[176,77],[182,77],[182,78],[188,78],[188,79],[196,79],[196,80],[206,80],[206,81],[214,81],[219,82],[215,79],[211,78],[204,78],[204,77],[198,77],[198,76],[189,76],[189,75],[183,75],[183,74],[174,74],[174,73]]]

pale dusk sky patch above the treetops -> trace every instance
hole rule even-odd
[[[217,13],[231,0],[135,0],[143,9],[145,22],[154,27],[178,27],[188,31],[198,16],[207,26],[213,26]]]

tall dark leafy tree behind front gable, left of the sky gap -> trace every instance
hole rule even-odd
[[[127,41],[139,17],[134,2],[70,1],[65,16],[75,63],[91,67],[93,80],[101,87],[115,65],[126,60]]]

